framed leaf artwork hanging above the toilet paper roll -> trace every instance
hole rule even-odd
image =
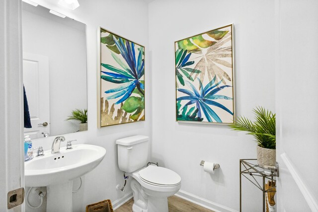
[[[176,121],[231,124],[233,24],[175,42]]]

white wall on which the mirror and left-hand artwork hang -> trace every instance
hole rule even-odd
[[[127,37],[146,47],[148,56],[148,5],[143,0],[79,0],[76,10],[64,9],[56,0],[34,0],[41,5],[54,9],[87,25],[87,92],[88,92],[88,131],[65,135],[66,140],[77,139],[78,143],[87,143],[106,148],[106,156],[101,164],[83,177],[81,190],[74,194],[74,212],[84,212],[85,206],[105,199],[112,202],[131,192],[130,184],[126,191],[116,191],[116,185],[123,185],[122,172],[117,164],[117,146],[119,138],[132,135],[147,135],[151,132],[151,70],[146,61],[146,121],[118,126],[97,128],[97,76],[98,72],[98,31],[103,27],[119,35]],[[51,147],[54,137],[37,139],[33,145]],[[64,148],[66,143],[61,144]],[[75,187],[74,189],[77,189]]]

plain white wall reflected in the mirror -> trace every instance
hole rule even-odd
[[[79,125],[66,119],[76,108],[87,108],[85,27],[70,27],[70,20],[40,11],[22,10],[23,52],[49,58],[50,135],[76,132]]]

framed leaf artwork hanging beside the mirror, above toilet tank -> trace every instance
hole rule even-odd
[[[99,126],[145,121],[145,47],[100,28]]]

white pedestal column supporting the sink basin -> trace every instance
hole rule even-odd
[[[72,211],[73,181],[47,186],[47,212]]]

